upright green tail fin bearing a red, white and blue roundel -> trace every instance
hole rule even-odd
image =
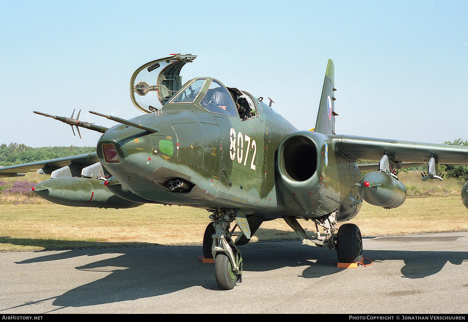
[[[319,113],[315,122],[315,132],[323,134],[335,134],[335,97],[333,86],[335,82],[335,65],[328,60],[327,72],[323,81],[322,98],[320,99]]]

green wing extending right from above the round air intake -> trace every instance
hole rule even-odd
[[[394,162],[427,164],[434,157],[439,164],[468,165],[468,146],[377,139],[363,136],[330,135],[335,149],[355,161],[378,161],[387,154]]]

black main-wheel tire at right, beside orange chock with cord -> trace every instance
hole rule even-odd
[[[339,263],[356,263],[362,260],[362,236],[358,226],[346,223],[338,229],[336,255]]]

